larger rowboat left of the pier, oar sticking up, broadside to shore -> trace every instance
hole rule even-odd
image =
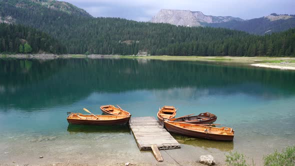
[[[71,113],[66,119],[70,124],[115,125],[128,123],[130,116]]]

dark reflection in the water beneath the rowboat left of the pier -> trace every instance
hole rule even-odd
[[[128,125],[83,125],[68,124],[69,133],[130,133]]]

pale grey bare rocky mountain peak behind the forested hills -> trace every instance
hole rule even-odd
[[[201,26],[207,23],[220,23],[227,21],[242,21],[243,19],[232,16],[204,15],[200,11],[161,9],[150,22],[170,23],[182,26]]]

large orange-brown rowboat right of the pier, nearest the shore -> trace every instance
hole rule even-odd
[[[229,127],[212,127],[201,124],[191,124],[174,121],[164,121],[164,127],[170,131],[181,135],[212,139],[232,141],[234,130]]]

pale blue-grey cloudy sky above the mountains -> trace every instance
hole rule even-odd
[[[295,0],[62,0],[91,15],[147,21],[161,8],[202,11],[206,15],[251,19],[269,15],[295,14]]]

